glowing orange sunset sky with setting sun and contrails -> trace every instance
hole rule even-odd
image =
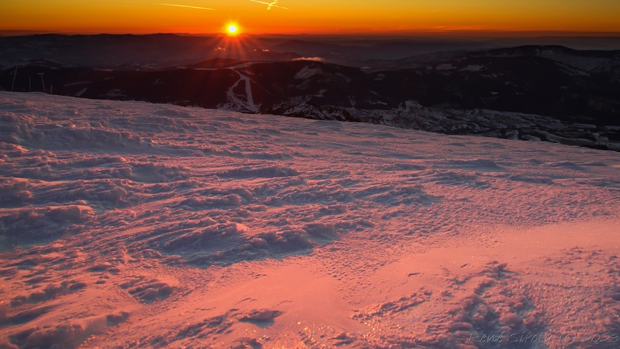
[[[273,1],[273,2],[272,2]],[[617,32],[618,0],[0,0],[0,31],[68,34]]]

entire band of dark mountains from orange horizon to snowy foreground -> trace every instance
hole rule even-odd
[[[65,96],[620,149],[620,50],[226,40],[165,34],[0,38],[0,89],[45,87]],[[451,50],[425,52],[441,47]],[[385,57],[423,53],[368,59],[365,50]],[[332,63],[325,58],[330,54],[350,66]]]

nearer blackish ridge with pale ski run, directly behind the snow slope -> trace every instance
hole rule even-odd
[[[266,49],[253,51],[256,60],[235,57],[242,53],[237,50],[230,52],[233,56],[206,57],[185,64],[168,61],[163,66],[124,64],[106,68],[44,57],[5,62],[0,89],[331,118],[501,138],[578,138],[577,144],[617,149],[618,130],[608,126],[620,126],[618,52],[522,45],[373,60],[367,61],[371,66],[361,68]],[[4,53],[0,52],[0,57]],[[484,117],[480,117],[480,110]],[[510,122],[504,125],[489,117],[497,113],[510,114]],[[442,126],[432,116],[435,114],[455,122]],[[532,118],[538,120],[534,123],[537,126],[524,128],[524,120]],[[584,130],[573,124],[592,127]]]

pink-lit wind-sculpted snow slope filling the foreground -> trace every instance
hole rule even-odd
[[[45,94],[0,118],[2,348],[620,341],[616,152]]]

